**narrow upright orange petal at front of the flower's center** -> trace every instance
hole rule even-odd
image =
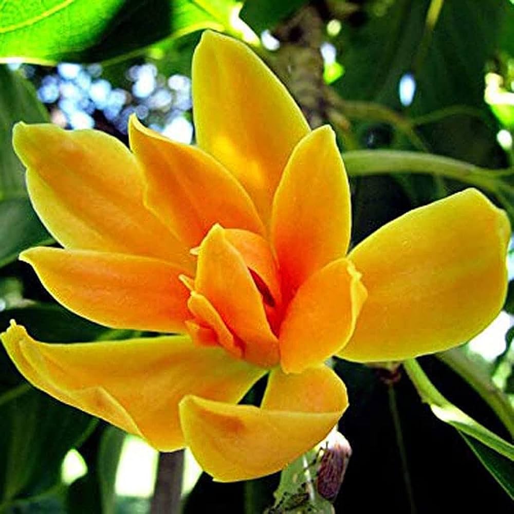
[[[278,362],[277,338],[241,254],[215,225],[200,245],[195,290],[213,305],[243,344],[243,358],[261,366]]]

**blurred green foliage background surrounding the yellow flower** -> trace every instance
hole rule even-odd
[[[353,243],[469,185],[514,221],[509,0],[4,0],[0,329],[15,318],[46,341],[131,337],[56,305],[16,261],[21,250],[53,241],[30,206],[11,127],[51,120],[95,127],[126,142],[126,121],[135,112],[167,136],[194,142],[190,65],[206,28],[251,44],[311,125],[335,127],[351,177]],[[509,272],[512,279],[512,252]],[[450,405],[507,442],[514,435],[513,284],[502,314],[484,334],[419,361]],[[511,509],[511,460],[442,423],[401,368],[338,361],[335,369],[353,399],[339,427],[353,457],[337,512]],[[259,394],[258,384],[253,398]],[[164,512],[149,498],[156,462],[137,440],[34,390],[0,350],[0,512]],[[297,487],[287,473],[270,511],[332,511],[327,502],[284,501],[284,491],[294,494]],[[167,511],[253,514],[276,500],[279,475],[219,484],[198,474],[186,454],[181,505]],[[181,473],[172,481],[182,483]]]

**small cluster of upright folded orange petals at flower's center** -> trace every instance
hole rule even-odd
[[[191,291],[186,325],[192,339],[265,368],[277,365],[284,310],[268,242],[246,230],[215,226],[197,255],[194,280],[181,277]]]

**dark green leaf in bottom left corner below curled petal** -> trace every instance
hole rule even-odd
[[[60,484],[61,464],[97,420],[22,385],[0,396],[0,511]]]

